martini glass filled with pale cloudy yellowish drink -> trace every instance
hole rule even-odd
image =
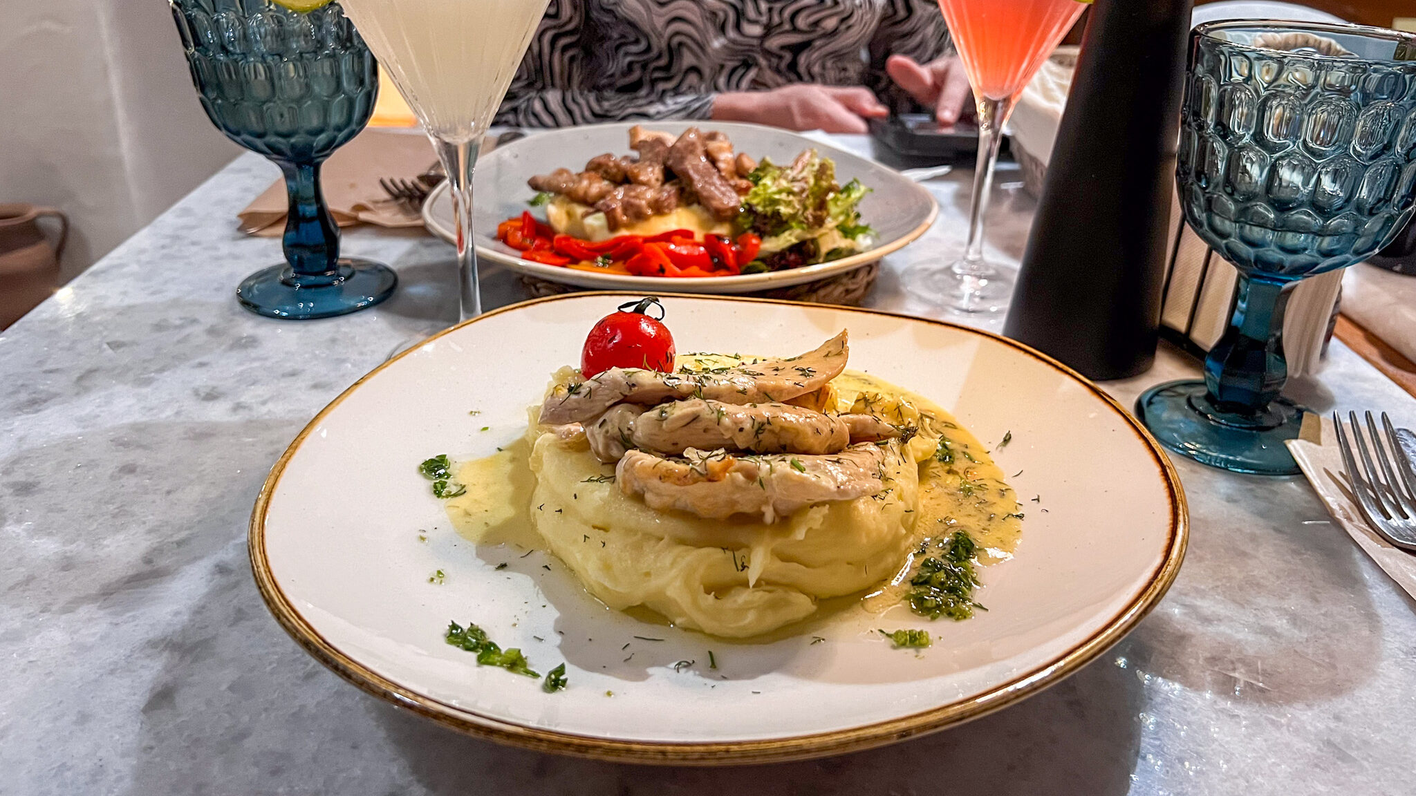
[[[463,320],[481,314],[472,238],[477,147],[548,0],[343,0],[432,139],[452,186]]]

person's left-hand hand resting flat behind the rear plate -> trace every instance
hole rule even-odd
[[[967,85],[967,84],[966,84]],[[756,122],[789,130],[864,133],[867,119],[889,116],[868,88],[796,84],[772,91],[729,91],[712,102],[721,122]]]

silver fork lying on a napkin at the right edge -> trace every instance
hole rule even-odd
[[[1393,545],[1416,552],[1416,470],[1402,452],[1400,439],[1392,419],[1382,412],[1382,426],[1386,432],[1386,445],[1391,446],[1391,457],[1386,446],[1382,445],[1382,435],[1376,431],[1376,421],[1372,412],[1366,412],[1366,429],[1371,436],[1371,450],[1368,440],[1362,435],[1362,426],[1357,422],[1357,412],[1348,412],[1352,426],[1352,440],[1348,443],[1342,429],[1342,418],[1332,412],[1332,425],[1337,426],[1337,446],[1342,452],[1342,466],[1347,467],[1347,479],[1352,484],[1352,496],[1357,504],[1382,538]],[[1361,457],[1361,469],[1352,448]],[[1375,465],[1372,450],[1375,450]],[[1395,459],[1396,465],[1392,465]]]

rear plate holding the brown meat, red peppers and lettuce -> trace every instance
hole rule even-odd
[[[640,122],[538,132],[497,147],[480,159],[473,184],[476,210],[473,239],[477,244],[477,256],[501,263],[517,273],[579,288],[657,293],[753,293],[854,271],[923,235],[939,212],[935,197],[899,171],[789,130],[731,122],[650,122],[644,125],[671,133],[681,133],[695,125],[702,129],[722,130],[732,139],[736,152],[746,152],[758,160],[770,157],[776,163],[790,163],[801,150],[816,147],[821,154],[835,161],[835,173],[841,183],[857,177],[872,190],[861,200],[861,215],[867,224],[875,228],[875,248],[821,265],[772,273],[657,279],[623,273],[593,273],[525,261],[521,259],[521,252],[493,237],[497,224],[521,215],[521,211],[527,210],[527,200],[535,195],[535,191],[527,187],[528,178],[562,166],[571,170],[583,169],[586,160],[605,152],[629,153],[629,129],[636,123]],[[456,241],[452,194],[447,190],[447,183],[439,186],[423,204],[423,224],[439,238],[447,242]]]

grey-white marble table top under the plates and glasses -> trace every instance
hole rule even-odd
[[[994,205],[1003,261],[1021,255],[1032,212],[1015,174],[1000,174]],[[235,214],[276,176],[242,156],[0,333],[0,792],[1410,793],[1416,603],[1301,477],[1187,460],[1189,554],[1164,602],[1059,686],[926,738],[654,769],[497,746],[360,693],[266,613],[246,520],[314,412],[455,320],[453,256],[428,237],[354,231],[347,252],[398,269],[389,302],[256,317],[232,290],[278,244],[239,235]],[[874,306],[935,312],[899,275],[961,246],[969,181],[929,184],[940,221],[886,261]],[[507,273],[486,283],[489,306],[521,297]],[[1195,373],[1164,348],[1146,375],[1104,387],[1129,405]],[[1293,394],[1416,425],[1416,401],[1341,343]]]

